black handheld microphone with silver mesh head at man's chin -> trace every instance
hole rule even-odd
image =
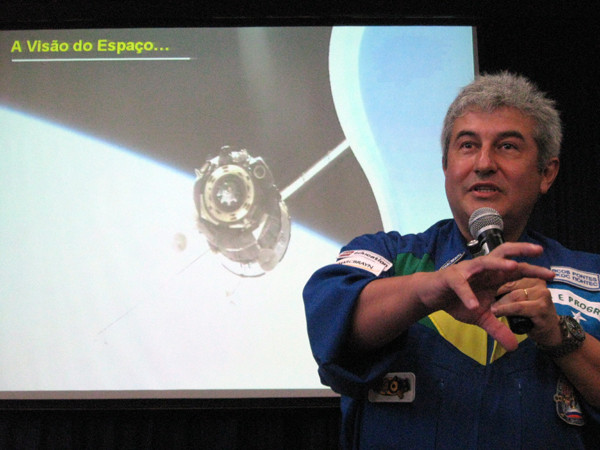
[[[467,244],[473,256],[487,255],[504,243],[504,221],[494,208],[479,208],[469,218],[469,231],[475,240]],[[525,334],[533,328],[529,317],[508,317],[510,329],[515,334]]]

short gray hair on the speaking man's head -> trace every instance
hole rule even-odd
[[[521,75],[501,72],[478,76],[465,86],[448,108],[442,129],[442,163],[448,163],[448,148],[452,128],[457,118],[473,109],[486,112],[513,107],[531,117],[535,123],[534,140],[538,147],[538,169],[560,154],[562,125],[554,100],[548,98],[535,84]]]

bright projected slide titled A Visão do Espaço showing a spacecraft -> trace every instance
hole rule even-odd
[[[474,74],[470,28],[0,48],[3,398],[330,395],[308,277],[358,234],[449,216],[438,136]]]

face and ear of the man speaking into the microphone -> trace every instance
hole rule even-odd
[[[469,217],[483,206],[504,219],[506,240],[517,240],[540,194],[556,174],[554,158],[540,173],[533,139],[535,122],[515,108],[474,109],[454,123],[444,169],[446,196],[463,235]]]

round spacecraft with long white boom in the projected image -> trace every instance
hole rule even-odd
[[[242,277],[273,270],[290,242],[285,200],[348,148],[342,142],[281,191],[263,158],[243,148],[223,146],[196,169],[198,230],[223,266]]]

